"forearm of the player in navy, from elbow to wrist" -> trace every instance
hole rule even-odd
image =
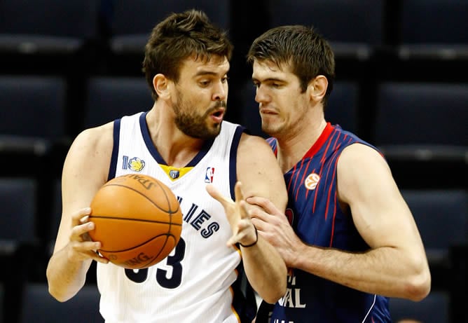
[[[418,301],[425,290],[420,284],[427,281],[421,261],[394,247],[352,253],[304,246],[294,267],[359,291]]]

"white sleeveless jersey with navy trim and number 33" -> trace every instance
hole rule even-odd
[[[223,121],[221,132],[186,167],[165,165],[149,137],[146,113],[114,122],[109,179],[148,174],[169,186],[184,214],[181,239],[160,263],[129,270],[97,263],[100,312],[108,323],[237,323],[232,285],[241,255],[226,242],[232,231],[221,203],[205,186],[226,196],[235,184],[235,160],[242,127]],[[138,232],[135,232],[137,235]]]

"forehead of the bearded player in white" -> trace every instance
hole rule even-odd
[[[203,75],[212,75],[222,77],[229,71],[230,64],[226,56],[211,55],[189,56],[181,64],[181,77],[198,77]]]

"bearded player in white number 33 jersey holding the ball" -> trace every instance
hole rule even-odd
[[[80,291],[92,261],[107,323],[251,322],[256,303],[245,286],[270,303],[284,295],[287,268],[258,235],[243,197],[268,198],[284,212],[287,191],[266,141],[223,121],[231,52],[205,13],[169,15],[145,49],[153,107],[76,137],[64,162],[62,220],[47,268],[57,300]],[[125,174],[163,181],[184,214],[179,244],[141,270],[109,263],[96,253],[101,242],[88,239],[93,196]]]

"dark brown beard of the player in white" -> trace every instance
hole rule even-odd
[[[216,105],[206,111],[205,114],[198,114],[193,104],[184,100],[184,96],[179,92],[177,94],[177,101],[172,104],[175,114],[174,123],[187,136],[199,139],[212,139],[219,135],[221,123],[209,125],[207,119],[214,110],[220,107],[226,108],[226,101],[216,102]]]

